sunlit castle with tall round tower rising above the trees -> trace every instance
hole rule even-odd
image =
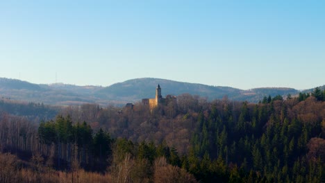
[[[150,110],[153,110],[155,107],[158,107],[159,105],[167,105],[169,101],[176,102],[175,96],[167,95],[166,98],[163,98],[161,95],[161,88],[158,84],[156,88],[156,98],[143,98],[142,104],[149,106]]]

